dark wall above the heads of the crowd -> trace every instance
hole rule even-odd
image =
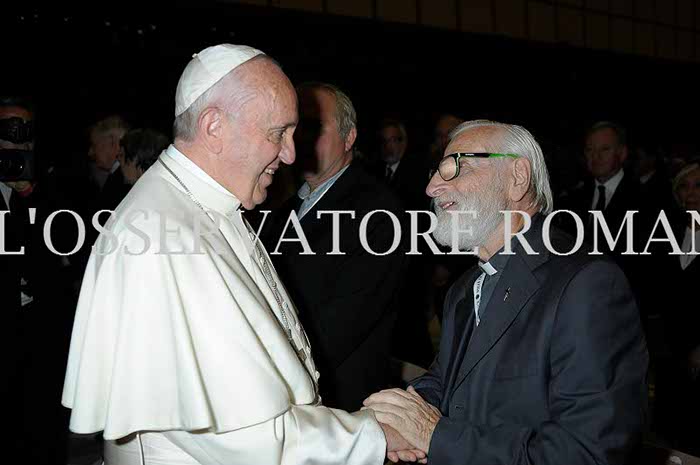
[[[107,113],[170,132],[178,77],[192,53],[221,42],[260,48],[294,83],[335,83],[353,99],[362,151],[385,116],[427,151],[441,112],[529,128],[555,188],[580,160],[590,123],[614,119],[632,142],[692,155],[700,67],[694,63],[425,26],[203,2],[86,9],[3,6],[0,94],[39,106],[42,156],[83,157],[85,128]],[[559,181],[559,182],[556,182]]]

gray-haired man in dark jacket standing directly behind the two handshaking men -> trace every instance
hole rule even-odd
[[[371,254],[360,241],[360,224],[375,210],[401,217],[400,202],[354,161],[357,114],[350,98],[321,82],[299,85],[297,95],[300,122],[294,133],[294,166],[304,184],[272,212],[262,237],[268,250],[279,252],[273,253],[273,263],[308,331],[323,378],[324,403],[354,411],[390,383],[391,336],[408,259],[403,246],[388,255]],[[322,213],[332,211],[354,214],[340,215],[336,228],[343,255],[331,253],[334,220]],[[299,217],[314,255],[304,254],[298,242],[280,243],[278,248],[291,212]],[[389,216],[378,213],[368,224],[368,247],[389,250],[394,239]],[[287,229],[286,237],[293,236]]]

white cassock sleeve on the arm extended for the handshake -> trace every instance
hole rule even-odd
[[[264,423],[227,433],[167,431],[201,465],[381,465],[384,433],[369,411],[292,406]]]

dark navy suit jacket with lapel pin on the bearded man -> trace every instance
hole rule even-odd
[[[515,246],[453,385],[455,313],[472,312],[479,273],[467,272],[447,296],[439,355],[413,383],[444,415],[430,463],[629,463],[648,362],[634,298],[613,262],[551,254],[541,231],[538,215],[525,237],[539,255]],[[573,245],[556,229],[551,240],[560,251]]]

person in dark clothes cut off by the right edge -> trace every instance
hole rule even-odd
[[[673,229],[675,244],[657,245],[657,256],[663,262],[655,289],[660,294],[657,304],[665,327],[668,358],[658,363],[654,424],[674,447],[700,455],[699,160],[689,162],[676,175],[673,194],[683,211]],[[657,235],[662,236],[660,232]]]

